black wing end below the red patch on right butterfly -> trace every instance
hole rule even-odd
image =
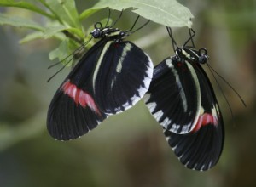
[[[201,127],[196,133],[176,134],[164,130],[168,144],[185,167],[205,171],[215,166],[222,150],[220,128]]]

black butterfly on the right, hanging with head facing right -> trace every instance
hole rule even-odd
[[[207,49],[194,48],[195,32],[178,48],[167,27],[176,55],[154,67],[145,103],[164,128],[168,144],[185,167],[207,170],[218,162],[224,145],[224,122],[212,84],[201,67]],[[193,47],[186,46],[191,41]]]

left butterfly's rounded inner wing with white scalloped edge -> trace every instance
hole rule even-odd
[[[132,42],[109,41],[93,77],[93,88],[102,111],[115,114],[135,105],[148,91],[153,63]]]

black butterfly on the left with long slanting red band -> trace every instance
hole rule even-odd
[[[153,63],[142,49],[124,41],[137,20],[127,31],[113,28],[117,20],[112,26],[95,24],[90,34],[101,40],[74,66],[49,105],[47,127],[52,137],[76,139],[143,98]]]

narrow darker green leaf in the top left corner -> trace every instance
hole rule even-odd
[[[0,0],[0,6],[25,8],[25,9],[31,10],[33,12],[36,12],[38,14],[43,14],[44,16],[47,16],[49,18],[54,18],[53,15],[48,14],[41,8],[38,8],[37,6],[33,5],[32,3],[26,3],[25,1],[17,2],[14,0]]]

